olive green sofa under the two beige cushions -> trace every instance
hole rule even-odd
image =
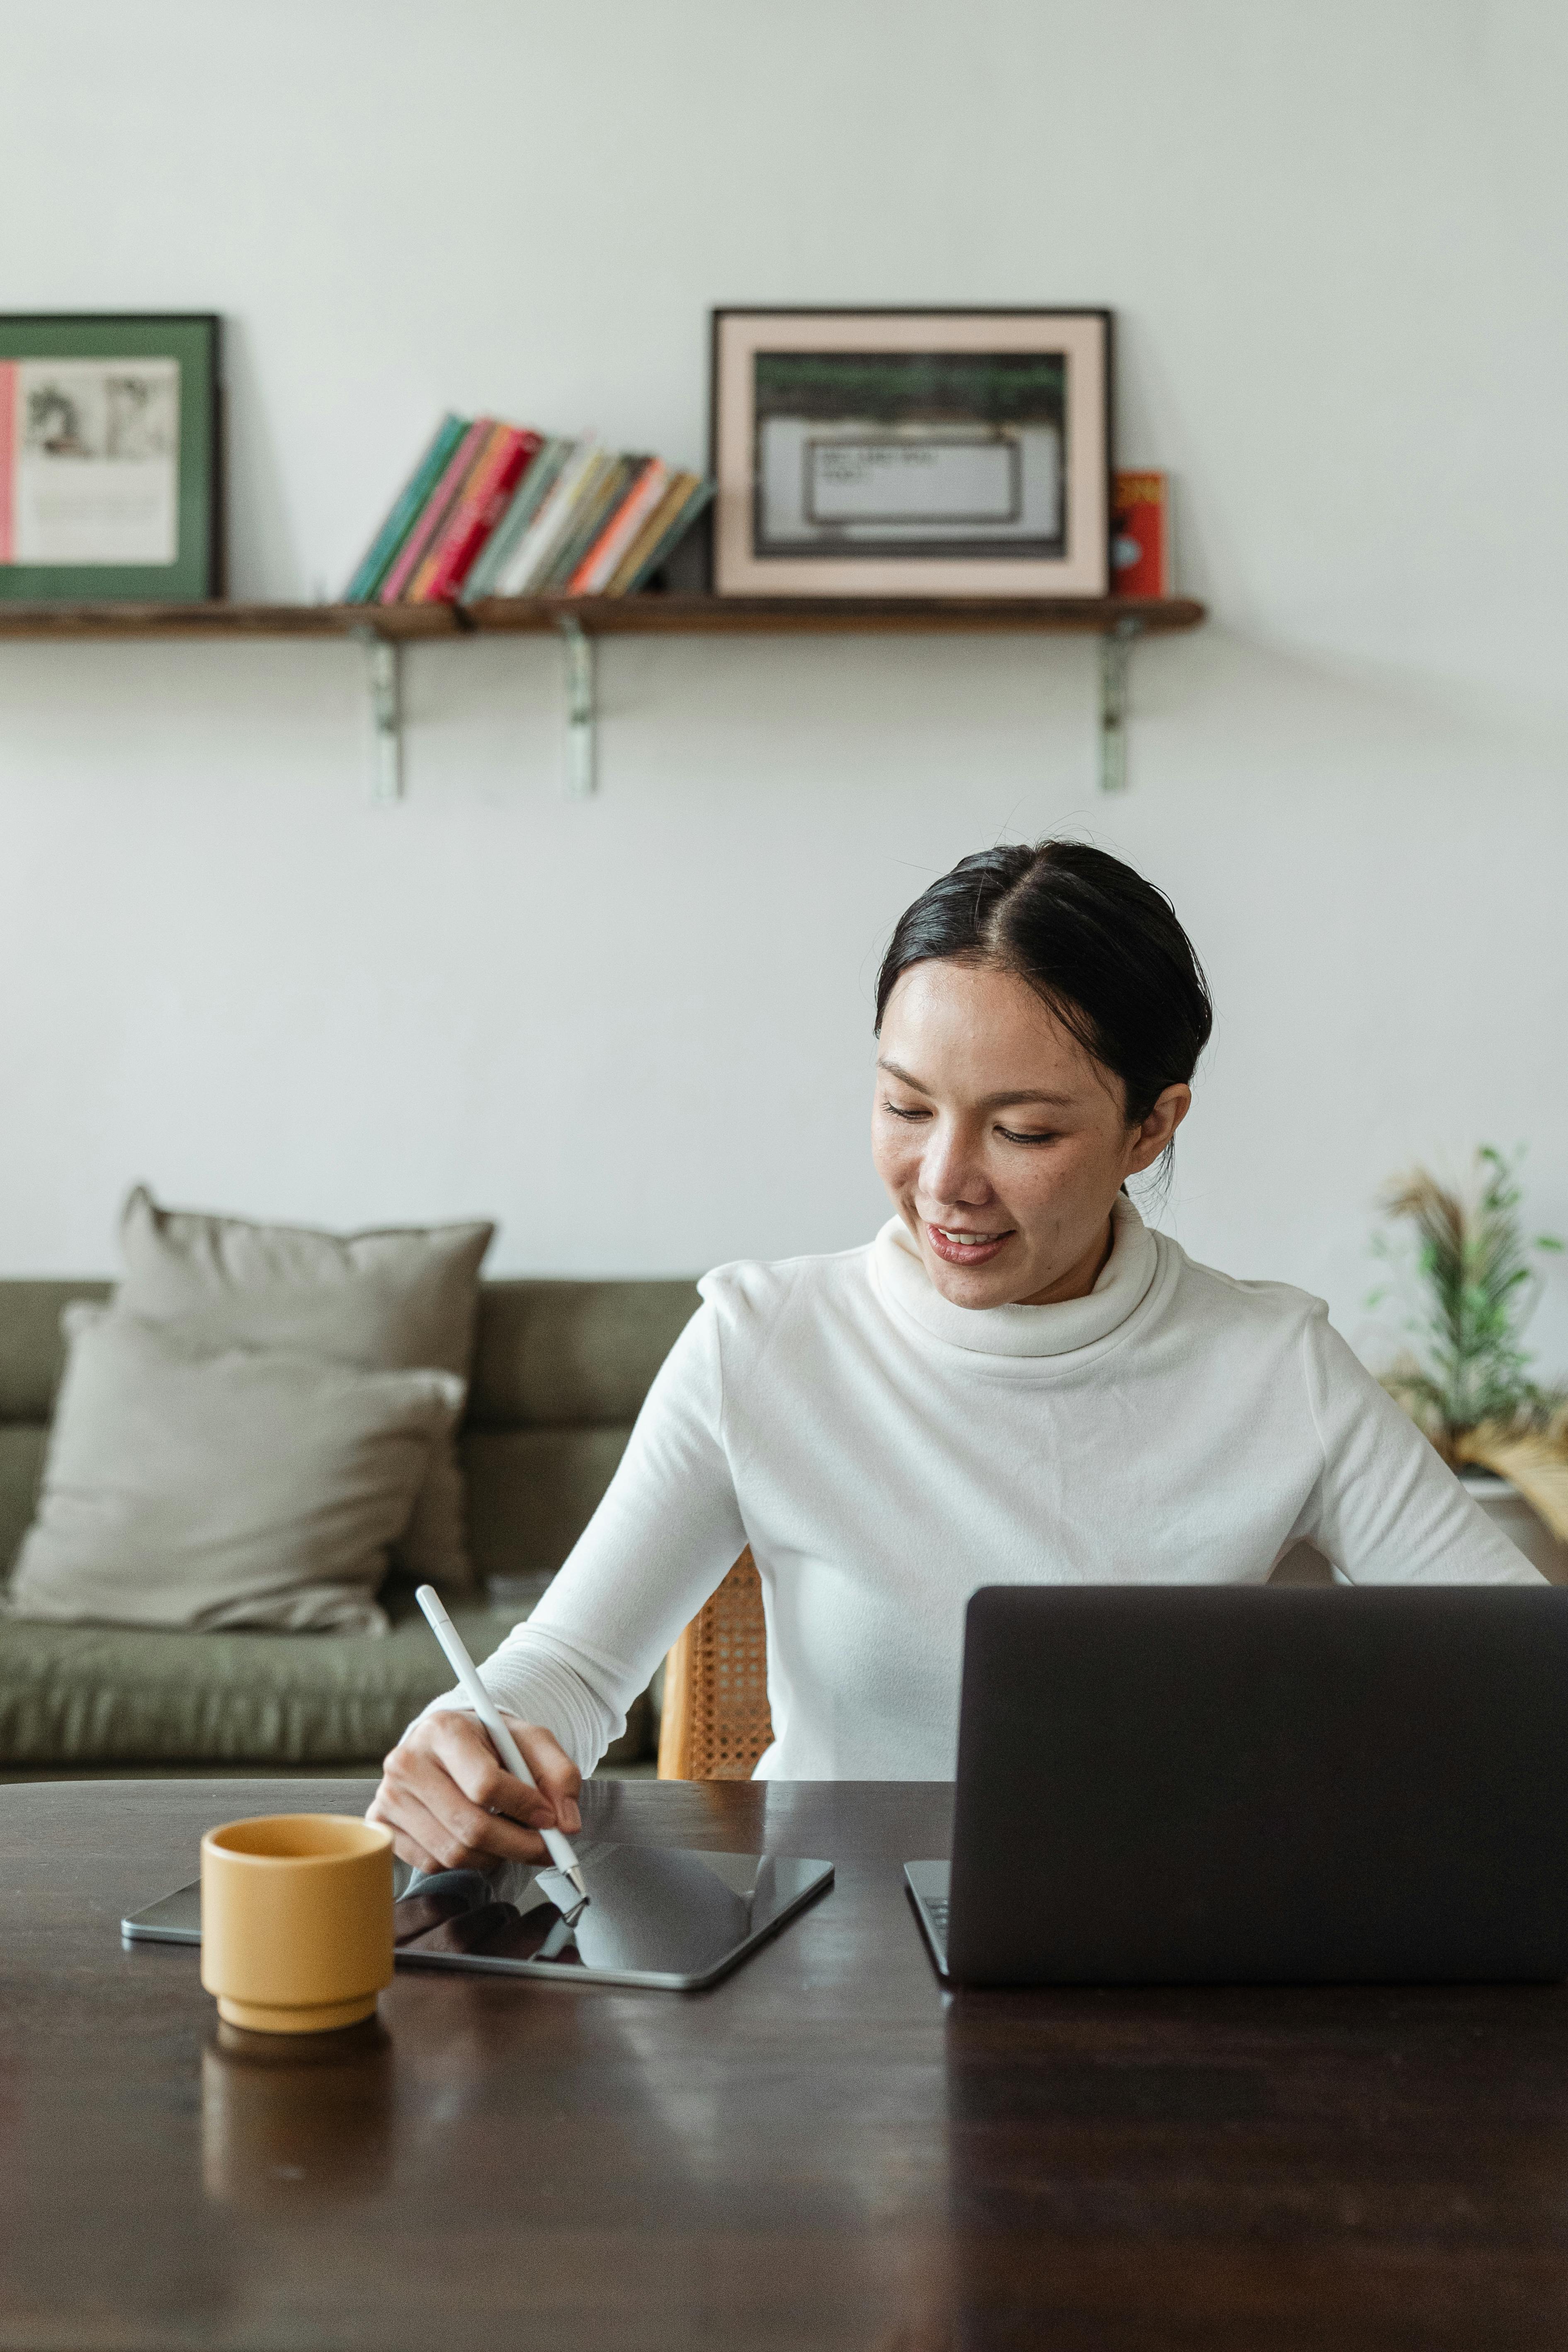
[[[0,1564],[9,1576],[63,1364],[61,1308],[108,1282],[0,1282]],[[487,1282],[461,1456],[480,1578],[555,1573],[621,1461],[691,1282]],[[451,1686],[414,1595],[386,1637],[143,1632],[0,1618],[0,1780],[71,1773],[367,1771]],[[475,1658],[527,1616],[449,1595]],[[654,1748],[646,1698],[607,1762]]]

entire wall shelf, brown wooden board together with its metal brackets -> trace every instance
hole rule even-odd
[[[402,793],[407,644],[559,635],[567,659],[567,790],[595,786],[597,637],[1077,635],[1100,640],[1100,788],[1126,786],[1126,659],[1138,637],[1197,628],[1194,597],[487,597],[477,604],[7,604],[0,642],[132,637],[348,637],[367,652],[376,764],[371,795]]]

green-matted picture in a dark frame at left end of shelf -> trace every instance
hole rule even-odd
[[[0,597],[221,595],[219,322],[0,313]]]

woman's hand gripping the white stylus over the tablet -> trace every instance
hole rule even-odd
[[[541,1830],[583,1828],[583,1776],[541,1724],[503,1717],[538,1780],[527,1788],[501,1764],[477,1717],[442,1708],[425,1715],[381,1766],[364,1818],[393,1832],[400,1860],[416,1870],[484,1870],[489,1863],[543,1863]]]

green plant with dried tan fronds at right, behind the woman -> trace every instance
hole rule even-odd
[[[1410,1345],[1382,1385],[1450,1468],[1507,1479],[1568,1543],[1568,1395],[1533,1378],[1523,1348],[1540,1298],[1533,1261],[1563,1244],[1549,1232],[1523,1237],[1521,1200],[1519,1155],[1507,1160],[1490,1143],[1465,1190],[1427,1169],[1385,1190],[1382,1214],[1401,1232],[1378,1235],[1373,1249],[1413,1312]],[[1368,1303],[1387,1296],[1389,1284]]]

